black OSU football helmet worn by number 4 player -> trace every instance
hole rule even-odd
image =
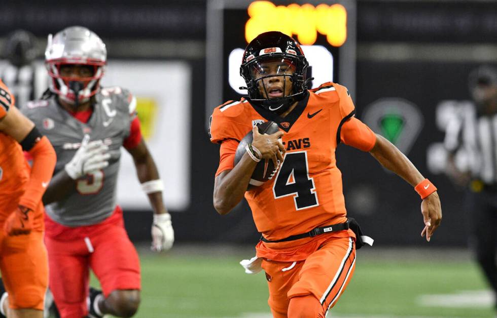
[[[272,69],[267,67],[270,62],[275,62]],[[292,37],[278,31],[259,34],[247,45],[240,66],[247,99],[281,114],[305,96],[307,83],[312,80],[306,78],[308,66],[304,52]],[[272,86],[272,82],[277,84]]]

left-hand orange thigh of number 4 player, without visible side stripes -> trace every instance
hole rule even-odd
[[[304,261],[277,262],[263,259],[262,268],[266,273],[269,289],[268,304],[273,317],[286,317],[290,299],[288,292],[298,281],[299,270]]]

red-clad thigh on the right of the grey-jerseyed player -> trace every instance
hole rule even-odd
[[[100,281],[105,297],[114,290],[139,290],[140,262],[123,226],[109,225],[90,237],[93,253],[90,266]]]

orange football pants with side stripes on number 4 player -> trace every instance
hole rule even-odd
[[[268,304],[273,316],[324,317],[347,287],[355,264],[356,247],[352,237],[333,238],[303,261],[263,259],[262,268],[269,287]],[[309,295],[313,298],[307,297]],[[307,311],[296,304],[289,310],[293,298],[295,302],[306,304]]]

